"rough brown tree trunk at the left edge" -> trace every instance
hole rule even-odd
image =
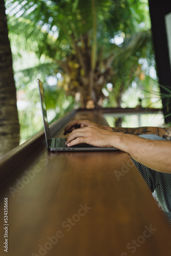
[[[0,156],[19,144],[19,122],[12,53],[4,0],[0,0]]]

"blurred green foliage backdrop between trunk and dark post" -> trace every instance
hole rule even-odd
[[[6,0],[6,10],[23,140],[41,129],[37,78],[51,118],[139,100],[161,108],[147,0]]]

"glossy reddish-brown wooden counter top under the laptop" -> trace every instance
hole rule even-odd
[[[104,122],[90,111],[75,117]],[[168,223],[126,153],[48,153],[45,144],[33,153],[1,188],[1,255],[169,255]]]

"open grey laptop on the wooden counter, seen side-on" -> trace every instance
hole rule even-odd
[[[86,143],[81,143],[74,145],[72,147],[68,147],[66,143],[66,138],[51,138],[50,130],[49,130],[49,123],[47,118],[47,110],[46,110],[46,103],[45,103],[45,95],[44,95],[44,88],[42,82],[37,79],[38,81],[38,88],[39,88],[39,95],[40,95],[40,103],[41,103],[41,112],[42,118],[44,121],[44,129],[45,129],[45,139],[47,150],[52,152],[69,152],[69,151],[118,151],[115,147],[96,147]]]

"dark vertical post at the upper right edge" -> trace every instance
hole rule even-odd
[[[165,15],[171,12],[171,0],[148,0],[148,3],[159,83],[171,90],[171,65],[165,26]],[[161,93],[168,94],[162,87],[160,87],[160,90]],[[171,114],[171,97],[169,100],[162,98],[162,103],[164,115]],[[166,123],[170,121],[171,116],[165,117]]]

